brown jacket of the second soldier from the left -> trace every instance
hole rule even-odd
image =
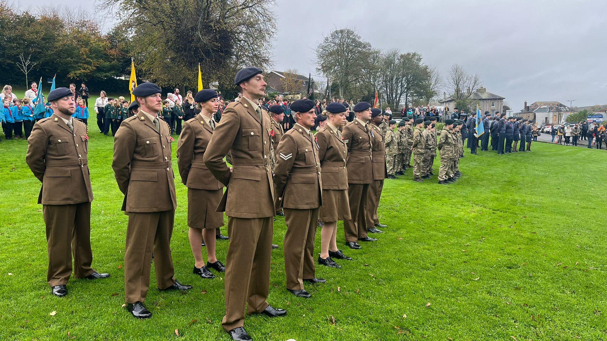
[[[122,121],[114,137],[112,169],[124,194],[126,212],[162,212],[177,208],[168,124],[160,132],[144,113]]]

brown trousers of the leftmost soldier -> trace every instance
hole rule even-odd
[[[46,280],[50,286],[66,285],[72,274],[83,278],[93,273],[90,264],[90,203],[42,205],[46,225],[49,269]]]

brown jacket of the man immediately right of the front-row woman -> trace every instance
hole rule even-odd
[[[369,124],[367,123],[367,127]],[[373,163],[371,162],[371,133],[358,120],[348,122],[342,133],[348,146],[348,183],[373,183]]]

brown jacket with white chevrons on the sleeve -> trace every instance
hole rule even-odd
[[[276,149],[274,167],[276,196],[282,198],[277,206],[293,209],[313,209],[322,206],[322,179],[318,145],[304,127],[295,124]]]

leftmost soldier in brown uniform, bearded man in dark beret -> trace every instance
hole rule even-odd
[[[27,139],[25,162],[42,182],[38,203],[46,225],[49,269],[47,282],[53,295],[67,295],[67,281],[74,277],[100,279],[100,274],[90,265],[93,254],[90,249],[90,187],[89,136],[86,126],[72,119],[76,111],[73,93],[59,87],[49,93],[47,100],[53,115],[34,124]]]

